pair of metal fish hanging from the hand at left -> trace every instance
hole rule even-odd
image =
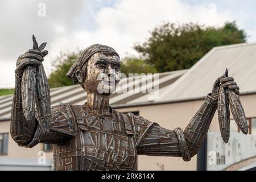
[[[35,36],[32,36],[33,49],[43,51],[46,43],[38,47]],[[29,96],[29,97],[26,97]],[[36,107],[35,107],[36,105]],[[22,107],[24,117],[27,121],[35,118],[35,109],[39,122],[49,119],[51,111],[51,101],[49,96],[49,86],[43,65],[38,68],[28,65],[22,75]]]

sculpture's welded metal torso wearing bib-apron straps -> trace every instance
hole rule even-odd
[[[122,115],[113,111],[103,119],[89,113],[86,106],[76,108],[83,119],[73,119],[77,121],[75,137],[54,146],[55,170],[132,170],[136,141],[127,134]]]

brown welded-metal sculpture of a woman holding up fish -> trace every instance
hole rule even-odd
[[[239,88],[232,77],[219,77],[185,130],[164,129],[155,122],[122,114],[109,106],[110,93],[98,93],[98,75],[119,76],[118,53],[94,44],[84,50],[69,69],[72,78],[87,92],[84,105],[50,107],[49,86],[42,61],[45,44],[19,56],[11,113],[11,136],[19,146],[53,144],[55,170],[132,170],[137,155],[176,156],[185,161],[196,155],[217,109],[220,85]],[[114,81],[116,85],[117,80]],[[103,86],[112,89],[109,82]]]

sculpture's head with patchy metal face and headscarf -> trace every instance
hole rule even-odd
[[[82,52],[69,69],[67,76],[86,91],[97,94],[111,94],[120,77],[120,59],[109,46],[94,44]]]

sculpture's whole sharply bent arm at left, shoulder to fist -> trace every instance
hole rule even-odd
[[[16,61],[10,133],[19,146],[33,147],[39,142],[63,143],[66,138],[74,135],[69,105],[53,107],[50,113],[46,112],[50,107],[50,101],[46,100],[44,94],[48,84],[42,61],[47,53],[40,51],[40,47],[35,49],[34,45],[33,49],[19,56]],[[38,71],[42,74],[37,74]],[[27,87],[24,88],[25,86]],[[23,108],[24,102],[28,103],[26,109]],[[33,109],[35,111],[35,106],[38,107],[36,113],[30,114],[33,113]]]

